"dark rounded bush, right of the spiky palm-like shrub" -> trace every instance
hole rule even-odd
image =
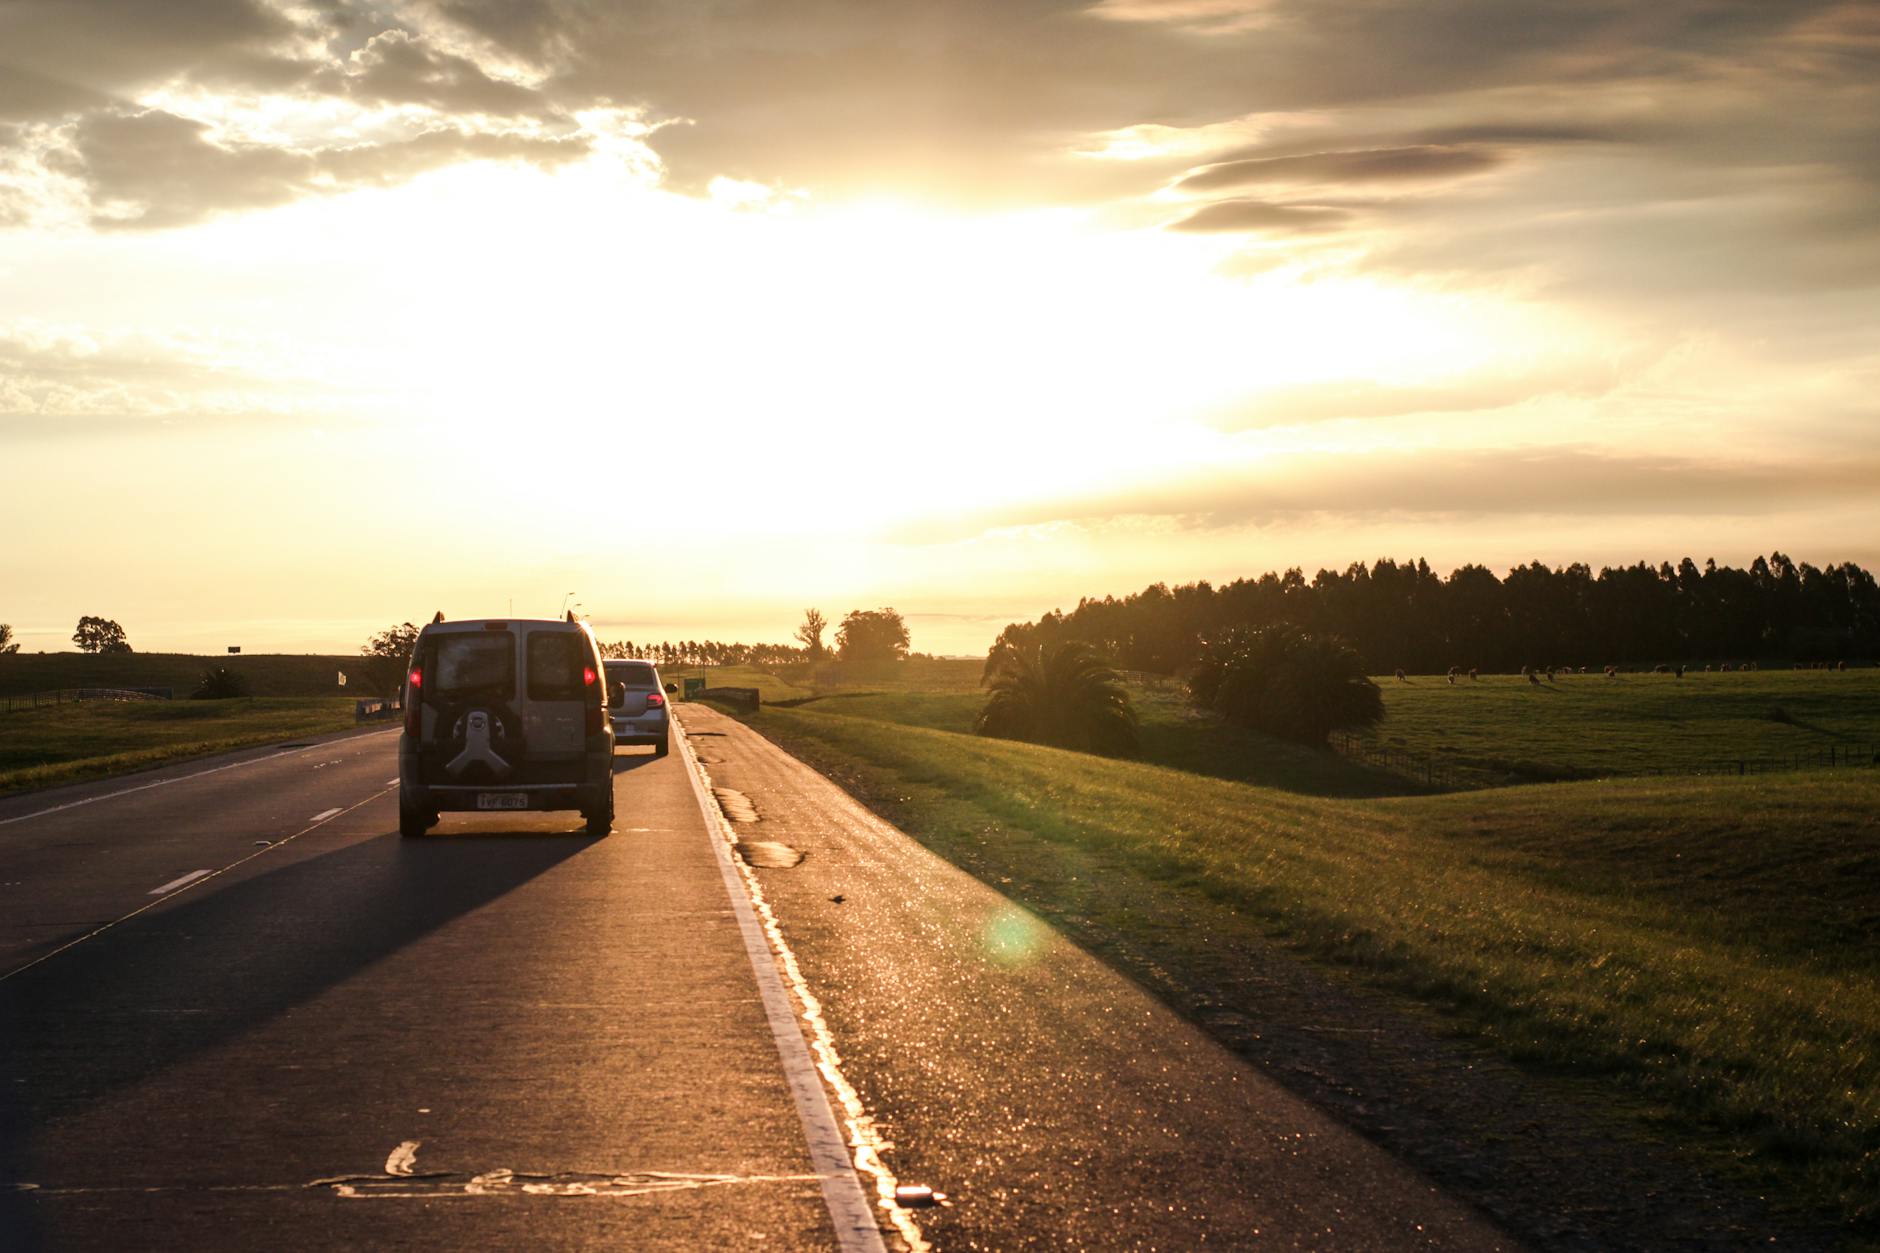
[[[1357,653],[1295,626],[1235,628],[1207,642],[1188,692],[1230,722],[1308,745],[1384,717],[1384,696]]]

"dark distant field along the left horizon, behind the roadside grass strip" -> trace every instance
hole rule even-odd
[[[211,666],[227,666],[248,679],[254,696],[376,696],[365,690],[359,657],[318,653],[250,653],[197,657],[194,653],[19,653],[0,657],[0,696],[51,692],[64,687],[169,687],[188,696]],[[350,683],[338,685],[344,670]]]

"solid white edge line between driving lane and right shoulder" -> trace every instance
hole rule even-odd
[[[848,1142],[829,1108],[829,1093],[823,1091],[822,1076],[810,1059],[810,1046],[797,1025],[795,1008],[784,980],[776,973],[776,960],[771,944],[758,926],[758,916],[744,896],[744,880],[731,865],[731,839],[724,830],[718,807],[705,794],[699,779],[699,760],[692,751],[692,739],[684,734],[675,738],[679,753],[686,762],[686,779],[692,781],[692,796],[697,798],[699,815],[705,818],[705,833],[713,852],[718,856],[718,873],[724,877],[724,892],[731,897],[731,914],[737,916],[739,935],[744,937],[744,956],[750,958],[750,971],[758,976],[758,993],[763,999],[763,1016],[771,1023],[771,1039],[776,1042],[778,1061],[784,1065],[784,1082],[797,1102],[797,1118],[803,1121],[803,1138],[808,1142],[810,1165],[822,1182],[823,1204],[829,1208],[829,1221],[835,1223],[837,1247],[857,1253],[885,1253],[882,1229],[874,1221],[874,1208],[855,1176],[855,1161],[848,1153]]]

